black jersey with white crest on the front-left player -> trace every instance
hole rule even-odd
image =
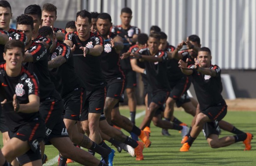
[[[10,102],[3,105],[2,112],[5,115],[5,124],[10,131],[16,132],[24,124],[41,119],[39,112],[14,112],[11,102],[14,94],[17,95],[20,104],[29,103],[29,95],[39,95],[38,78],[25,67],[22,67],[19,76],[9,77],[6,74],[5,65],[5,63],[0,64],[0,100],[7,99]]]

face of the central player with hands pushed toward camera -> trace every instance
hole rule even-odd
[[[75,22],[75,27],[78,32],[78,37],[86,38],[90,35],[90,28],[92,27],[92,23],[89,23],[88,17],[82,18],[80,16],[77,17]]]

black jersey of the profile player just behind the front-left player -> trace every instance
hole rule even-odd
[[[50,80],[48,57],[45,46],[33,42],[26,52],[29,52],[33,56],[33,62],[27,63],[27,66],[38,76],[40,83],[40,101],[44,101],[52,96],[60,98],[55,90],[53,82]]]

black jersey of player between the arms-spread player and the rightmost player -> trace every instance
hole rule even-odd
[[[175,50],[175,47],[172,45],[167,45],[165,51],[172,52]],[[181,72],[179,68],[177,59],[170,59],[167,63],[167,76],[169,83],[176,82],[177,80],[183,78],[185,74]]]

